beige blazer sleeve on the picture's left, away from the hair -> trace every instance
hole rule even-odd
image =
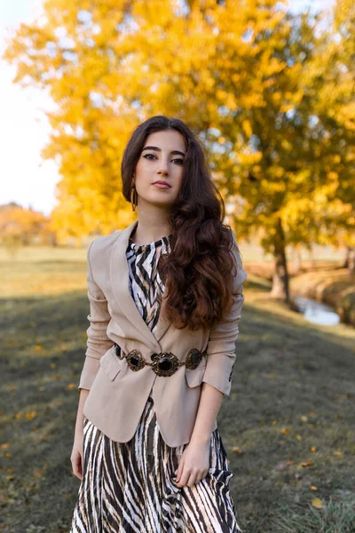
[[[87,318],[90,326],[87,333],[87,349],[85,352],[85,361],[80,377],[78,389],[91,389],[92,383],[99,371],[99,360],[106,351],[114,346],[113,341],[107,337],[107,325],[111,320],[108,312],[107,300],[104,293],[95,282],[91,269],[91,248],[93,241],[87,251],[87,284],[88,298],[90,301],[90,314]]]

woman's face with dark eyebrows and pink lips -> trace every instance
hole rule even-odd
[[[146,138],[136,166],[138,208],[142,203],[160,207],[175,203],[183,178],[185,153],[185,139],[178,131],[155,131]],[[166,182],[167,186],[159,186],[157,181]]]

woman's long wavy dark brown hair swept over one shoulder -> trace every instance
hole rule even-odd
[[[132,132],[122,156],[122,194],[130,202],[132,176],[148,135],[166,130],[183,135],[186,154],[180,191],[170,213],[171,252],[159,260],[166,286],[164,318],[178,330],[210,329],[225,320],[233,304],[235,241],[231,227],[223,224],[225,203],[209,173],[205,148],[182,120],[156,115]]]

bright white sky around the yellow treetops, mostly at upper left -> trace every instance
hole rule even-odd
[[[320,11],[334,1],[290,0],[290,9]],[[42,0],[0,0],[0,55],[8,32],[21,22],[30,23],[41,4]],[[15,68],[0,59],[0,204],[16,202],[49,215],[57,203],[59,181],[56,163],[41,157],[51,132],[44,109],[51,101],[39,91],[12,84],[14,76]]]

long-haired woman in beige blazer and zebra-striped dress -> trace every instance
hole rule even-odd
[[[88,250],[71,533],[241,531],[217,413],[247,274],[185,123],[158,115],[133,131],[122,192],[138,220]]]

